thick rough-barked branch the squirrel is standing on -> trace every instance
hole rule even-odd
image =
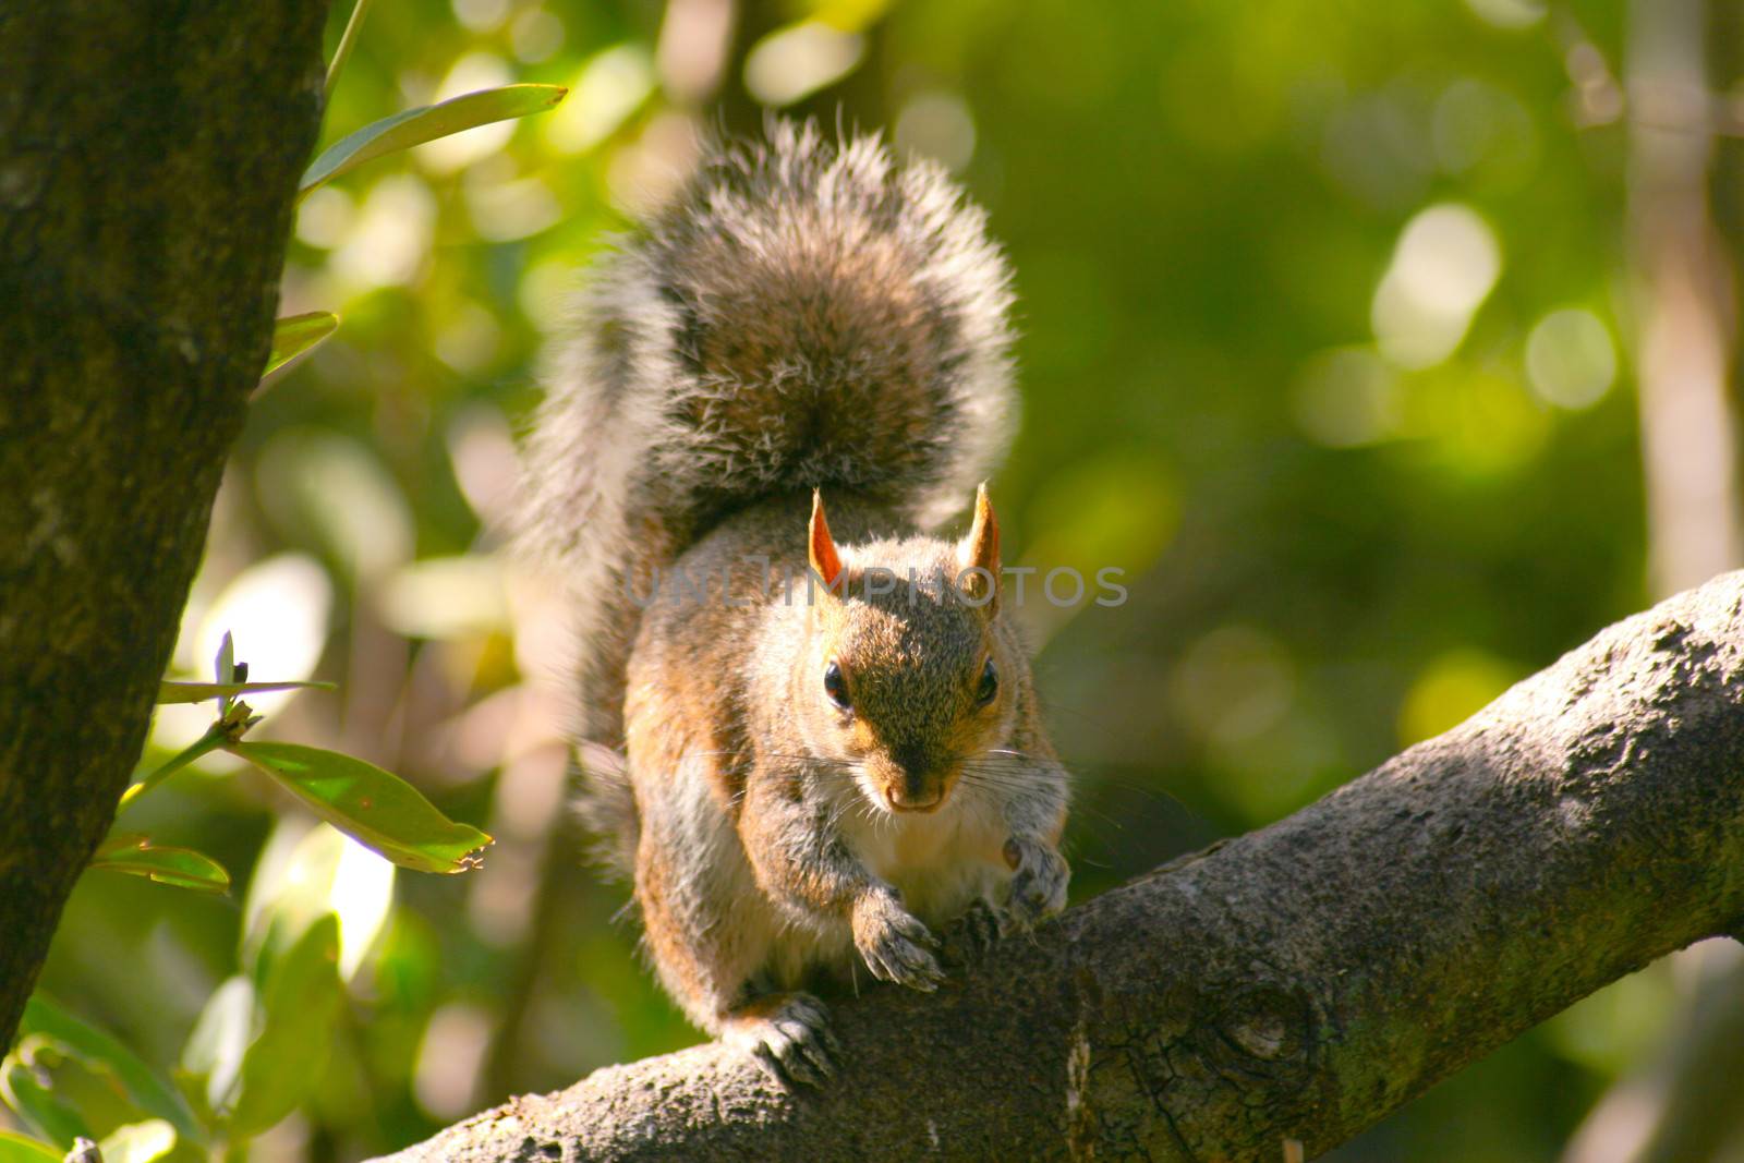
[[[783,1095],[705,1044],[426,1160],[1278,1160],[1674,949],[1744,931],[1744,572],[1631,617],[1270,828],[837,1003]]]

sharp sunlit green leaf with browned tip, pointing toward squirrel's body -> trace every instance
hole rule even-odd
[[[443,816],[410,783],[351,755],[300,743],[234,743],[330,825],[401,868],[466,872],[492,839]]]

